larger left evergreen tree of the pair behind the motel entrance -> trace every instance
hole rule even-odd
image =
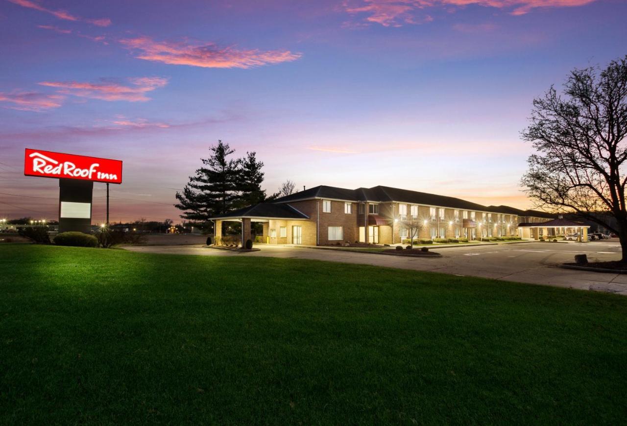
[[[209,217],[232,210],[238,199],[240,160],[228,158],[235,150],[221,140],[209,150],[209,158],[203,158],[204,167],[189,177],[189,184],[185,185],[182,194],[176,193],[179,203],[174,206],[184,211],[181,215],[184,219],[207,221]]]

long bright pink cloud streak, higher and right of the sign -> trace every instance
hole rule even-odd
[[[169,43],[154,41],[149,37],[121,39],[120,43],[137,52],[135,57],[139,59],[203,68],[253,68],[294,61],[301,56],[288,50],[260,51],[233,46],[219,47],[214,43]]]

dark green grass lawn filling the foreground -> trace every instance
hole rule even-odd
[[[1,424],[618,424],[626,336],[612,294],[0,246]]]

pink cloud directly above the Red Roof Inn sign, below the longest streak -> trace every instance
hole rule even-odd
[[[123,85],[115,81],[101,83],[83,83],[80,81],[42,81],[42,86],[58,88],[63,95],[79,96],[81,98],[100,99],[105,101],[144,102],[150,100],[146,93],[161,88],[167,84],[166,78],[140,77],[130,78],[130,85]]]

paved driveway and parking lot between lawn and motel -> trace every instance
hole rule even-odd
[[[557,268],[557,264],[573,261],[575,254],[585,253],[590,261],[610,261],[620,258],[618,242],[569,242],[567,244],[528,242],[524,244],[498,244],[495,246],[460,246],[436,248],[443,257],[385,256],[330,249],[313,249],[295,246],[266,246],[258,244],[260,251],[236,253],[211,249],[201,245],[191,246],[128,246],[129,251],[167,254],[197,254],[201,256],[255,256],[312,259],[387,266],[389,268],[433,271],[458,276],[517,281],[519,283],[577,288],[627,295],[627,274],[596,273]]]

